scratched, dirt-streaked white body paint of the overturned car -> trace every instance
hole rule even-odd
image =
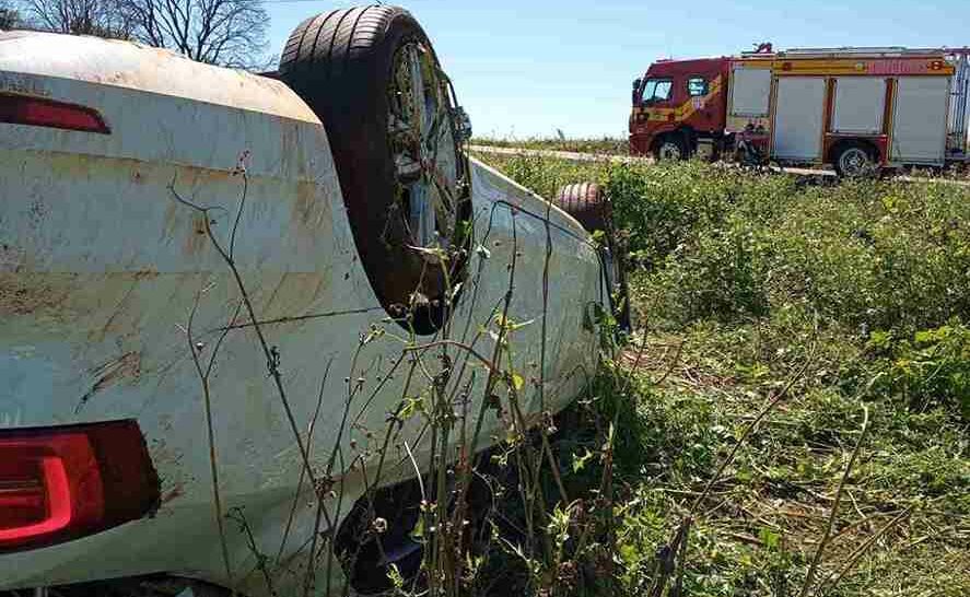
[[[44,50],[52,39],[67,48],[57,58]],[[241,292],[207,225],[229,247],[239,213],[233,259],[279,351],[304,433],[316,413],[315,467],[335,444],[347,454],[366,449],[404,389],[398,375],[375,391],[399,341],[388,335],[357,352],[359,336],[387,314],[360,266],[325,128],[276,81],[93,38],[0,37],[0,89],[93,107],[112,128],[91,136],[0,125],[0,428],[136,418],[164,496],[152,518],[0,555],[0,589],[157,571],[224,583],[191,351],[208,359],[227,328],[211,376],[220,491],[224,507],[245,508],[254,537],[271,550],[301,464],[254,326],[245,311],[233,317]],[[208,222],[175,194],[211,208]],[[569,215],[478,162],[472,202],[484,250],[469,262],[453,337],[487,350],[491,340],[476,339],[478,326],[505,294],[514,260],[510,316],[533,321],[514,333],[517,371],[536,372],[539,362],[547,214],[551,223],[546,403],[531,393],[527,405],[538,420],[540,409],[573,399],[594,366],[596,335],[584,323],[605,301],[597,256]],[[364,377],[369,398],[351,401],[353,424],[338,436],[346,377]],[[484,377],[479,372],[476,399]],[[490,437],[499,422],[487,417]],[[418,428],[408,423],[405,437],[423,463]],[[335,471],[346,491],[338,516],[363,489],[348,466]],[[311,532],[313,514],[299,508],[293,537]],[[234,566],[252,566],[245,538],[231,528],[227,542]],[[299,562],[301,542],[291,540],[284,559]],[[295,581],[281,573],[277,588],[288,582]],[[239,588],[265,589],[259,582]]]

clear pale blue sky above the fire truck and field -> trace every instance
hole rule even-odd
[[[399,0],[431,36],[477,136],[626,136],[630,82],[657,58],[755,43],[970,45],[970,0]],[[270,46],[352,3],[270,1]]]

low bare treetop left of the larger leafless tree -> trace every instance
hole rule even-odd
[[[128,39],[132,23],[122,0],[24,0],[35,28]]]

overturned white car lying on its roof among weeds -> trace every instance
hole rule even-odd
[[[331,558],[428,471],[402,400],[460,386],[484,449],[496,338],[536,422],[610,308],[587,231],[467,128],[397,8],[308,20],[266,77],[0,32],[0,593],[373,593],[413,559]]]

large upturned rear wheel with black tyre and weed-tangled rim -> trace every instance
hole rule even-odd
[[[434,331],[446,284],[460,280],[471,203],[467,122],[428,36],[397,7],[322,13],[290,35],[279,71],[324,122],[377,298]]]

